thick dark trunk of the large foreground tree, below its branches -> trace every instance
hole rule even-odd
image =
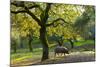
[[[48,40],[46,36],[46,27],[41,27],[40,29],[40,40],[43,46],[43,53],[41,61],[44,61],[49,58],[49,48],[48,48]]]

